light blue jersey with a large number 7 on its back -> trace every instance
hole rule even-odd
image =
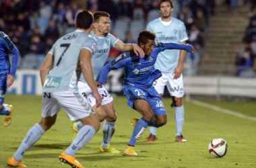
[[[59,38],[49,53],[53,54],[53,69],[47,75],[43,91],[68,91],[76,87],[77,62],[82,48],[92,53],[96,49],[96,40],[82,30],[75,30]],[[79,68],[79,67],[78,67]],[[80,71],[77,71],[79,73]]]

